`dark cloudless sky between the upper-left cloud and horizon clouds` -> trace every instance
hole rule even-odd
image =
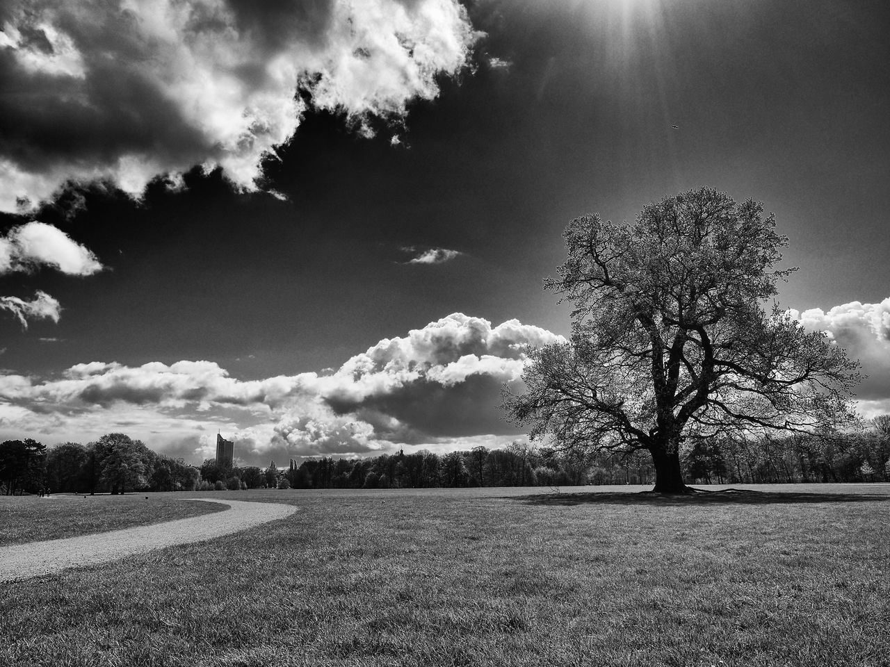
[[[454,312],[565,334],[568,311],[541,279],[562,261],[566,223],[582,213],[631,220],[653,200],[705,185],[776,214],[790,238],[786,263],[800,267],[781,287],[783,306],[829,311],[890,297],[886,4],[465,6],[485,35],[470,67],[439,75],[434,100],[409,100],[401,120],[371,118],[374,138],[343,112],[304,113],[264,165],[263,188],[286,199],[236,192],[220,170],[195,168],[185,189],[156,182],[140,202],[84,186],[77,211],[69,195],[27,217],[7,214],[4,229],[51,223],[105,269],[0,276],[2,293],[39,289],[62,308],[58,323],[27,330],[0,320],[5,373],[36,385],[75,364],[186,359],[261,381],[337,368]],[[20,131],[2,132],[0,150]],[[459,254],[409,263],[436,248]],[[870,331],[880,313],[890,322],[890,305],[878,310],[838,327]],[[875,344],[885,342],[878,332]],[[878,364],[881,350],[871,350]],[[279,418],[273,407],[272,417],[239,422],[218,407],[206,414],[223,429]],[[59,407],[46,438],[61,434],[65,414],[86,410]],[[0,431],[39,423],[32,417],[0,418]]]

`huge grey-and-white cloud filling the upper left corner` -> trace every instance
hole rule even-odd
[[[0,28],[8,212],[67,182],[139,197],[194,165],[255,189],[307,104],[372,135],[370,117],[433,99],[479,36],[457,0],[12,0]]]

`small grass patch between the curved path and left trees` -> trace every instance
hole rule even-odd
[[[0,546],[103,533],[225,510],[216,502],[188,502],[194,494],[59,494],[0,496]],[[213,497],[207,495],[207,497]],[[247,498],[244,498],[247,500]]]

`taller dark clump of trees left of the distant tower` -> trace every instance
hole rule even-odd
[[[0,491],[7,495],[193,491],[199,481],[198,469],[153,452],[123,433],[49,449],[31,439],[0,444]]]

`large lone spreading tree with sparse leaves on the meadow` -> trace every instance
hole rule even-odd
[[[573,305],[570,342],[530,352],[506,414],[556,446],[647,450],[655,491],[684,493],[687,438],[806,431],[850,416],[857,362],[767,301],[794,269],[773,215],[713,189],[648,205],[632,224],[585,215],[545,285]]]

